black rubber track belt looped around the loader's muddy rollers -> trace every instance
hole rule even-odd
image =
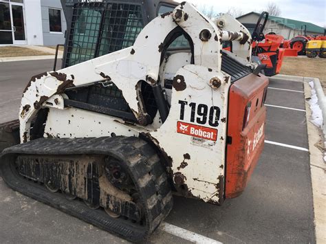
[[[144,210],[146,223],[139,225],[123,218],[113,219],[103,210],[91,210],[82,201],[69,201],[64,194],[21,177],[14,162],[27,155],[108,155],[126,164]],[[173,207],[171,188],[164,167],[153,148],[138,137],[40,138],[6,148],[0,157],[0,171],[10,188],[54,208],[83,219],[132,242],[144,241]]]

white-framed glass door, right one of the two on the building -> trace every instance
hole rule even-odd
[[[25,37],[25,19],[23,5],[10,3],[12,12],[12,37],[15,45],[27,44]]]

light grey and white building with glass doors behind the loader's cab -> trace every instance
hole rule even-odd
[[[60,0],[0,0],[0,45],[65,43]]]

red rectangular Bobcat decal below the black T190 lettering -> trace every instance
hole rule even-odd
[[[184,135],[191,135],[193,137],[199,137],[206,140],[216,142],[217,140],[217,129],[211,129],[196,124],[188,124],[184,122],[177,122],[177,133]]]

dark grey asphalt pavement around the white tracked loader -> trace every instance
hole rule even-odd
[[[0,122],[17,118],[29,78],[52,62],[0,63]],[[271,80],[266,104],[268,143],[243,194],[222,206],[174,197],[166,223],[222,243],[316,242],[303,82]],[[10,190],[1,178],[0,222],[0,243],[126,242]],[[159,228],[148,243],[188,241]]]

